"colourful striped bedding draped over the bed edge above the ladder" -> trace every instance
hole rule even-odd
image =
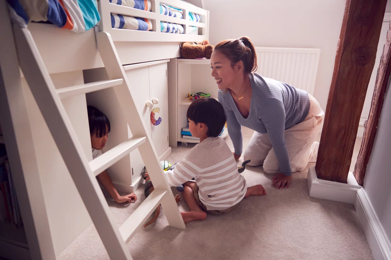
[[[96,0],[7,0],[13,23],[47,22],[73,32],[85,32],[97,25],[100,16]]]

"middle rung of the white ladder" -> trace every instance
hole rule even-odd
[[[90,161],[90,167],[92,172],[95,176],[99,175],[99,173],[103,172],[111,165],[117,163],[117,161],[119,161],[122,157],[126,156],[131,151],[145,143],[145,140],[147,140],[145,136],[133,136],[129,140],[124,141],[116,147],[113,147],[112,149],[108,150],[96,159],[93,159],[92,161]]]

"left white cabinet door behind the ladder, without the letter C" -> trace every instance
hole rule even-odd
[[[150,109],[146,106],[149,101],[149,69],[148,67],[141,67],[137,69],[130,69],[125,71],[126,76],[129,80],[131,93],[135,100],[136,107],[140,116],[144,119],[149,134],[151,134],[151,123],[150,123]],[[129,131],[129,138],[133,136]],[[132,183],[140,176],[141,171],[144,167],[143,160],[141,158],[138,149],[133,150],[130,153],[130,163],[132,170]]]

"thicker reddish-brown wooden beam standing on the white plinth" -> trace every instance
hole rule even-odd
[[[346,0],[316,173],[346,183],[387,0]]]

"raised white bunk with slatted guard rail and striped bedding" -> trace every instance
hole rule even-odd
[[[7,0],[9,7],[15,7],[23,1],[29,2]],[[51,74],[103,67],[95,39],[98,31],[105,31],[111,35],[124,65],[178,58],[181,57],[181,42],[201,42],[209,39],[209,11],[181,0],[86,0],[83,2],[95,3],[95,6],[90,4],[84,8],[67,5],[67,2],[76,1],[61,2],[64,3],[64,7],[52,7],[52,13],[61,16],[63,8],[65,11],[62,19],[59,19],[59,16],[50,19],[50,16],[45,17],[36,12],[33,12],[30,19],[26,15],[13,19],[25,24],[30,21],[27,27]],[[124,5],[127,2],[134,2],[135,6]],[[146,6],[144,2],[147,3]],[[16,12],[15,9],[10,8],[11,18]],[[39,8],[34,8],[36,9]],[[83,14],[83,11],[86,14]],[[40,22],[39,18],[45,22]],[[136,23],[138,26],[138,23],[146,23],[145,21],[148,21],[150,27],[148,31],[140,30],[145,29],[143,25],[140,25],[138,30],[126,29],[135,28]],[[175,31],[177,33],[170,33]]]

